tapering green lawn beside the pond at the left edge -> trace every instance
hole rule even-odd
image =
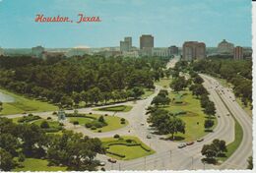
[[[5,89],[0,89],[1,92],[11,95],[15,98],[15,102],[4,102],[1,115],[19,114],[24,112],[43,112],[57,110],[57,106],[42,102],[32,98],[27,98],[20,94],[16,94]]]

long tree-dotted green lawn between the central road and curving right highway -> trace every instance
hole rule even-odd
[[[204,123],[206,115],[203,112],[200,100],[193,96],[192,92],[189,90],[180,91],[179,94],[183,94],[183,96],[179,97],[176,92],[170,92],[169,97],[171,99],[173,97],[179,97],[183,103],[176,104],[173,102],[165,107],[165,109],[172,113],[186,111],[186,114],[178,115],[178,117],[186,123],[185,134],[177,133],[175,135],[176,140],[188,142],[204,137],[209,132],[205,132]],[[215,121],[215,126],[212,129],[214,129],[218,123],[217,118],[214,118],[213,120]]]

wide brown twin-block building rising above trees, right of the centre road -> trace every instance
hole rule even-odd
[[[182,56],[184,60],[204,59],[206,57],[206,44],[198,41],[183,43]]]

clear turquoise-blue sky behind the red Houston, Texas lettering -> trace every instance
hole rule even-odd
[[[35,23],[36,14],[98,16],[100,23]],[[223,39],[251,46],[251,0],[0,0],[0,47],[119,46],[132,36],[152,34],[155,47]]]

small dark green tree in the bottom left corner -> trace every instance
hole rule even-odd
[[[15,167],[12,155],[3,148],[0,148],[0,168],[3,171],[11,171]]]

